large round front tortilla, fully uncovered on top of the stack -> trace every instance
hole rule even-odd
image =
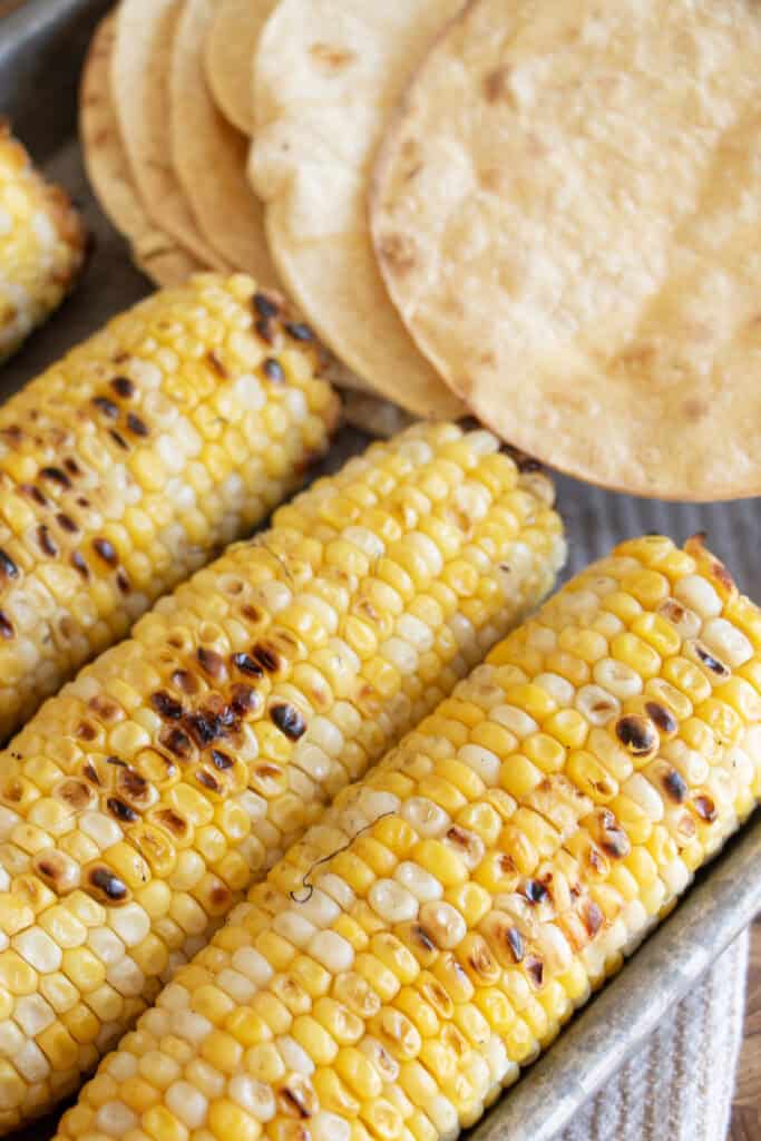
[[[608,487],[761,492],[761,7],[475,0],[396,115],[373,234],[502,437]]]

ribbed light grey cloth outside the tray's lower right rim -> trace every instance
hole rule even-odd
[[[745,932],[558,1141],[724,1141],[747,958]]]

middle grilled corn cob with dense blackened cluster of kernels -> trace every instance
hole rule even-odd
[[[487,432],[373,445],[0,755],[0,1126],[50,1107],[325,801],[550,588],[552,487]]]

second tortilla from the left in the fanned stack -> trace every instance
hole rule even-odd
[[[205,266],[228,269],[203,240],[171,167],[169,58],[181,0],[122,0],[111,95],[132,178],[151,219]]]

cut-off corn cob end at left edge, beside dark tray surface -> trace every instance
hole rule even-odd
[[[0,121],[0,361],[74,285],[86,232],[66,194],[34,170]]]

